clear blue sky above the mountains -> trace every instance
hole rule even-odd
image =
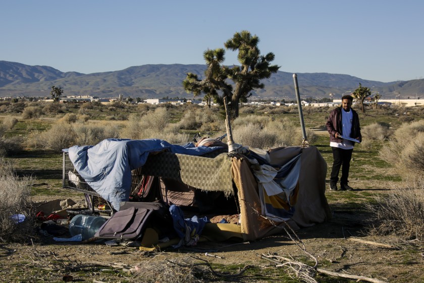
[[[411,80],[424,78],[423,17],[421,0],[0,0],[0,60],[85,74],[204,64],[248,30],[280,71]]]

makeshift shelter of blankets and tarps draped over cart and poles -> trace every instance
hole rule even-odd
[[[120,202],[128,202],[134,196],[144,200],[160,196],[170,204],[179,199],[186,207],[197,207],[192,213],[200,212],[204,208],[202,201],[208,201],[206,206],[219,205],[221,195],[234,201],[239,219],[205,230],[212,229],[211,234],[214,229],[236,231],[244,241],[281,233],[279,226],[286,224],[299,229],[331,219],[325,197],[327,164],[315,147],[277,148],[266,155],[256,154],[252,149],[245,155],[230,157],[222,147],[177,146],[160,139],[107,139],[94,147],[64,151],[63,186],[101,196],[116,210]],[[255,162],[258,159],[266,164]],[[276,175],[281,173],[276,167],[283,168],[289,162],[292,165],[285,167],[283,177],[273,177],[273,171]],[[260,171],[266,172],[258,174]],[[268,180],[262,182],[263,176]],[[154,178],[158,178],[156,186]],[[277,201],[276,194],[267,196],[267,183],[281,186],[287,179],[292,187],[282,186]],[[200,192],[206,194],[203,199]],[[192,198],[197,193],[200,197]],[[191,205],[187,206],[190,201],[185,198],[190,194]],[[269,211],[272,213],[264,213]],[[287,212],[288,217],[273,217],[278,211]],[[213,216],[214,208],[210,207],[207,214]],[[225,218],[221,214],[219,217]],[[223,240],[217,236],[214,240],[220,239]]]

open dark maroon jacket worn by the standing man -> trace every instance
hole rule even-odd
[[[330,142],[331,141],[335,141],[336,143],[341,143],[342,139],[341,138],[336,138],[334,135],[336,134],[336,132],[338,132],[339,134],[342,133],[342,108],[338,107],[336,109],[334,109],[333,111],[331,111],[330,116],[328,117],[327,120],[327,130],[330,133]],[[361,135],[361,128],[359,126],[359,116],[358,113],[356,113],[355,110],[353,110],[352,108],[350,109],[350,111],[352,111],[352,129],[350,131],[350,136],[352,138],[357,138],[359,137],[359,141],[362,140],[362,135]]]

